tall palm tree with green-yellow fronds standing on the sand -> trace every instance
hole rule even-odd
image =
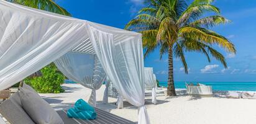
[[[212,3],[213,0],[194,0],[190,4],[185,0],[147,0],[147,7],[142,8],[139,15],[125,27],[142,33],[145,56],[158,47],[160,59],[163,54],[168,54],[168,95],[176,95],[173,56],[181,60],[188,74],[185,51],[203,53],[209,62],[211,55],[225,68],[227,63],[224,56],[213,45],[235,53],[234,45],[227,38],[209,30],[210,27],[229,22]]]

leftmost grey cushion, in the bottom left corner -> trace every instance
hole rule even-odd
[[[19,99],[19,92],[16,92],[11,95],[10,99],[7,99],[0,104],[0,113],[12,124],[34,124],[20,104],[21,100]]]

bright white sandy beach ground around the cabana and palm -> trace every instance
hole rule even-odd
[[[62,94],[40,94],[55,109],[69,108],[78,99],[89,99],[91,93],[80,84],[63,84]],[[97,91],[97,107],[107,112],[137,122],[137,108],[124,103],[124,108],[117,109],[116,99],[109,98],[109,104],[102,104],[105,86]],[[255,124],[256,100],[227,99],[225,92],[215,92],[214,97],[193,97],[178,95],[166,98],[158,91],[158,104],[150,103],[146,97],[146,107],[152,124]],[[150,95],[150,94],[149,94]],[[222,97],[221,97],[222,96]]]

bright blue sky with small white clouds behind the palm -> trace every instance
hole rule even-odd
[[[56,0],[73,17],[100,24],[124,28],[143,6],[142,0]],[[232,22],[214,27],[214,31],[229,38],[237,49],[236,55],[225,53],[228,69],[199,53],[186,53],[190,68],[185,74],[179,60],[175,60],[175,81],[256,81],[256,1],[252,0],[217,0],[214,5],[221,9],[221,14]],[[145,59],[145,66],[154,68],[157,79],[167,81],[167,55],[159,60],[156,50]]]

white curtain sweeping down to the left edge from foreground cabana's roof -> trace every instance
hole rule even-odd
[[[86,39],[86,24],[0,1],[0,91]]]

